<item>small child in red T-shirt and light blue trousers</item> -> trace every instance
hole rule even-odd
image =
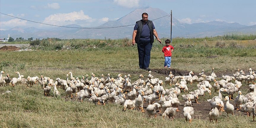
[[[173,46],[170,45],[170,40],[165,40],[165,46],[162,49],[162,52],[164,53],[164,68],[168,67],[171,68],[171,53],[173,52]]]

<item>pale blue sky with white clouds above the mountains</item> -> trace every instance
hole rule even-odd
[[[96,27],[144,7],[168,14],[172,10],[173,18],[188,24],[224,21],[256,25],[256,0],[0,0],[0,30],[52,27],[44,24]]]

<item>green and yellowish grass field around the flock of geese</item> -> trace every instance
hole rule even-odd
[[[161,39],[163,42],[165,39]],[[66,79],[71,71],[74,77],[94,73],[100,77],[108,73],[116,78],[119,73],[123,76],[131,74],[131,83],[138,79],[139,74],[147,78],[147,71],[138,67],[137,46],[131,46],[131,40],[45,40],[40,45],[30,47],[31,51],[0,51],[0,70],[16,77],[19,71],[24,78],[28,76],[47,76]],[[171,61],[171,69],[195,75],[204,69],[209,75],[212,67],[218,80],[223,75],[232,75],[237,69],[247,73],[249,68],[256,70],[256,40],[219,40],[219,39],[183,39],[176,38],[171,44],[175,48]],[[164,44],[155,42],[151,51],[150,69],[155,78],[165,80],[163,70],[164,57],[161,52]],[[213,84],[213,83],[211,83]],[[248,93],[248,85],[242,83],[242,93]],[[169,85],[163,85],[170,88]],[[189,91],[196,88],[196,84],[189,86]],[[80,102],[75,98],[66,97],[61,88],[61,97],[55,97],[50,92],[49,97],[43,95],[40,85],[27,88],[26,85],[0,86],[0,93],[10,90],[11,93],[0,95],[0,127],[177,127],[177,128],[253,128],[252,116],[235,114],[227,118],[221,114],[218,124],[210,123],[209,118],[200,118],[200,112],[195,111],[192,123],[185,122],[185,118],[175,118],[173,121],[149,118],[146,113],[137,110],[123,111],[123,106],[108,103],[106,106],[95,105],[88,101]],[[53,90],[53,87],[52,87]],[[181,95],[184,94],[183,92]],[[207,102],[217,96],[200,97],[201,102]],[[223,94],[225,96],[225,94]],[[237,94],[234,94],[236,97]],[[182,101],[182,98],[179,97]],[[194,106],[195,107],[195,106]],[[207,108],[209,109],[209,108]],[[178,113],[178,112],[177,112]],[[181,114],[182,112],[180,112]],[[204,115],[205,117],[205,115]],[[208,116],[206,116],[208,117]]]

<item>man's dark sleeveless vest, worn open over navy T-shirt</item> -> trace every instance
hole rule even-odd
[[[136,34],[136,37],[135,37],[135,42],[138,43],[140,41],[140,33],[142,31],[143,24],[142,24],[142,20],[137,21],[136,23],[138,24],[138,30],[137,30],[137,34]],[[147,26],[149,26],[149,30],[150,30],[150,41],[151,41],[151,43],[154,42],[154,34],[153,34],[152,24],[153,24],[153,22],[148,20]]]

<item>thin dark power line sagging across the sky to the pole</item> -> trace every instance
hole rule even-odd
[[[0,14],[6,15],[6,16],[10,16],[10,15],[4,14],[2,12],[0,12]],[[169,16],[169,15],[166,15],[166,16]],[[166,17],[166,16],[163,16],[163,17]],[[17,18],[17,19],[22,19],[22,18],[15,17],[15,16],[10,16],[10,17],[14,17],[14,18]],[[157,19],[160,19],[160,18],[163,18],[163,17],[159,17]],[[157,19],[153,19],[152,21],[157,20]],[[42,22],[31,21],[31,20],[28,20],[28,19],[22,19],[22,20],[29,21],[29,22],[35,22],[35,23],[38,23],[38,24],[45,24],[45,23],[42,23]],[[53,25],[53,24],[45,24],[45,25],[56,26],[56,27],[63,27],[63,28],[80,28],[80,27],[59,26],[59,25]],[[106,28],[121,28],[121,27],[134,26],[134,25],[135,24],[125,25],[125,26],[116,26],[116,27],[106,27]],[[104,29],[104,28],[80,28],[80,29]]]

